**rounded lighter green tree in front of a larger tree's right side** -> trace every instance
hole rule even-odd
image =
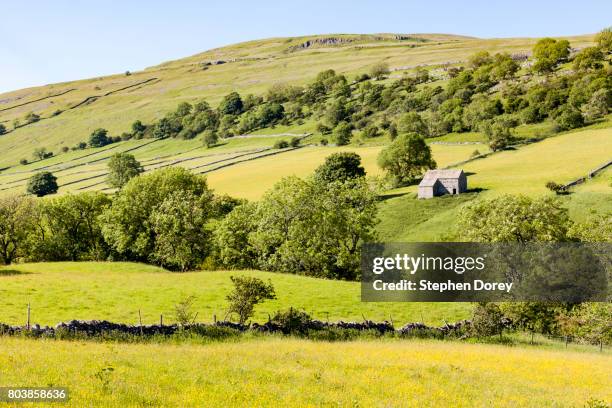
[[[210,208],[200,197],[177,190],[168,195],[150,216],[156,236],[150,258],[168,269],[187,271],[198,267],[211,247],[206,224]]]

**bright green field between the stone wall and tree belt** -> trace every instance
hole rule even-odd
[[[270,279],[277,300],[256,309],[255,320],[294,307],[313,317],[330,320],[393,319],[395,324],[422,321],[442,325],[444,320],[470,317],[466,303],[362,303],[358,282],[330,281],[290,274],[258,271],[172,273],[133,263],[40,263],[0,268],[0,322],[24,324],[26,307],[32,322],[55,325],[72,319],[107,319],[143,323],[174,321],[174,305],[195,296],[198,320],[225,317],[225,296],[231,290],[230,275],[246,274]]]

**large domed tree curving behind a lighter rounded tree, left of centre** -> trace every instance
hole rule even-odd
[[[177,192],[193,194],[205,213],[210,213],[212,193],[206,179],[182,167],[169,167],[131,179],[101,215],[106,242],[128,259],[157,262],[158,233],[152,216],[155,209]]]

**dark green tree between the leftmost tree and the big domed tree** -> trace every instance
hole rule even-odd
[[[111,200],[100,192],[65,195],[44,201],[39,233],[31,257],[35,260],[103,260],[108,255],[99,215]]]

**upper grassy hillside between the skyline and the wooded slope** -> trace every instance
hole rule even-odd
[[[317,38],[348,38],[338,45],[299,48]],[[573,47],[592,43],[593,36],[572,37]],[[449,35],[408,36],[308,36],[251,41],[215,49],[192,57],[151,67],[131,75],[66,82],[0,94],[0,123],[28,112],[39,122],[19,127],[0,137],[0,167],[30,158],[34,148],[58,152],[62,146],[84,141],[96,128],[113,135],[128,130],[137,119],[151,122],[175,109],[182,101],[206,98],[216,106],[232,90],[242,94],[264,93],[278,82],[306,83],[325,69],[350,76],[384,61],[401,75],[419,65],[439,66],[464,61],[479,51],[526,52],[537,39],[475,39]],[[218,65],[204,65],[224,61]]]

